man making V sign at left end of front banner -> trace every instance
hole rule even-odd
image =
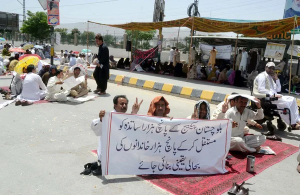
[[[132,114],[136,114],[139,110],[139,106],[142,103],[142,100],[140,103],[137,102],[137,97],[136,101],[132,105]],[[111,112],[121,112],[121,113],[126,113],[127,111],[127,105],[128,105],[128,99],[126,95],[116,95],[113,98],[113,110]],[[102,117],[105,115],[105,110],[101,110],[99,112],[99,117],[96,119],[93,119],[90,124],[90,128],[93,130],[96,136],[99,136],[99,142],[98,142],[98,147],[97,147],[97,155],[98,155],[98,161],[102,161],[102,156],[101,156],[101,135],[102,135]],[[101,166],[98,166],[97,170],[92,171],[93,175],[101,175]]]

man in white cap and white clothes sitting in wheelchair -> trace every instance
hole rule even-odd
[[[297,102],[292,96],[283,96],[277,93],[281,90],[281,85],[277,75],[274,73],[274,69],[274,62],[270,61],[265,65],[265,71],[258,74],[254,79],[253,94],[257,98],[271,97],[273,95],[278,97],[278,100],[272,101],[272,103],[276,104],[279,109],[289,108],[291,127],[293,130],[298,130],[300,129],[300,117]],[[289,115],[281,112],[279,114],[289,124]]]

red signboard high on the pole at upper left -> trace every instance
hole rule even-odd
[[[48,25],[59,25],[59,1],[47,0]]]

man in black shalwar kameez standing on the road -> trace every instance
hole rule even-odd
[[[109,78],[109,50],[106,44],[103,43],[103,38],[100,34],[95,36],[95,41],[97,46],[99,46],[99,50],[97,66],[93,72],[93,77],[97,83],[97,89],[93,92],[102,95],[106,94],[107,80]]]

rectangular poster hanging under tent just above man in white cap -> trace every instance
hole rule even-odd
[[[266,43],[264,57],[282,59],[286,44],[268,42]]]

